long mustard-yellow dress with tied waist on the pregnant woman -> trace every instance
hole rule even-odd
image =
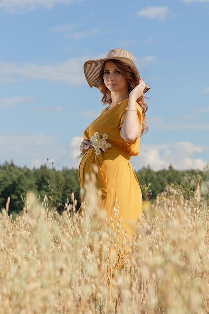
[[[114,219],[114,226],[122,217],[122,226],[128,229],[131,234],[130,222],[136,222],[142,214],[142,195],[139,182],[130,164],[131,156],[139,153],[139,140],[127,143],[120,136],[120,128],[124,122],[128,98],[119,102],[111,110],[106,107],[84,131],[83,137],[90,138],[99,132],[100,137],[104,133],[108,135],[107,142],[111,147],[105,152],[95,154],[94,148],[89,148],[79,165],[80,185],[83,187],[85,175],[92,173],[92,164],[96,164],[99,172],[97,173],[97,184],[101,196],[99,197],[99,208],[107,211],[107,216]],[[142,111],[137,105],[137,114],[142,126]],[[113,209],[119,209],[118,217],[114,217]]]

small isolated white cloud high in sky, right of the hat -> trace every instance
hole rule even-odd
[[[137,13],[139,17],[163,21],[168,15],[168,7],[151,7],[141,10]]]

